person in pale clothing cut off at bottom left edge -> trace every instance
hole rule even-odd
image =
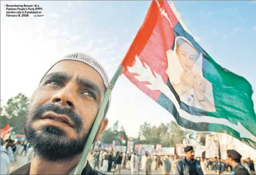
[[[0,146],[0,174],[7,175],[10,166],[10,157],[5,146]]]

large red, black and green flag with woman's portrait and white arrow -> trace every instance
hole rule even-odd
[[[170,112],[178,125],[227,133],[256,149],[251,85],[208,55],[172,1],[151,2],[120,65],[122,73]]]

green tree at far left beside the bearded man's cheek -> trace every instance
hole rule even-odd
[[[24,117],[29,106],[30,99],[19,93],[17,96],[8,99],[3,107],[5,114],[2,115],[1,109],[1,128],[10,124],[16,133],[23,134]]]

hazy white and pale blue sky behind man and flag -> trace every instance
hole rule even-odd
[[[111,78],[140,28],[151,1],[1,1],[0,96],[28,97],[60,57],[83,52]],[[174,1],[198,43],[221,66],[256,90],[256,1]],[[4,4],[38,4],[45,17],[6,17]],[[256,103],[256,95],[253,95]],[[1,104],[2,105],[2,104]],[[136,137],[144,121],[173,116],[123,75],[112,93],[107,118]]]

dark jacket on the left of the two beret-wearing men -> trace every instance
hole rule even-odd
[[[196,167],[196,172],[198,175],[203,175],[203,171],[200,165],[200,161],[197,161],[195,159],[192,159],[192,164],[195,165]],[[186,158],[183,160],[180,160],[177,163],[176,166],[176,171],[175,171],[176,175],[189,175],[189,166],[188,163],[186,161]]]

